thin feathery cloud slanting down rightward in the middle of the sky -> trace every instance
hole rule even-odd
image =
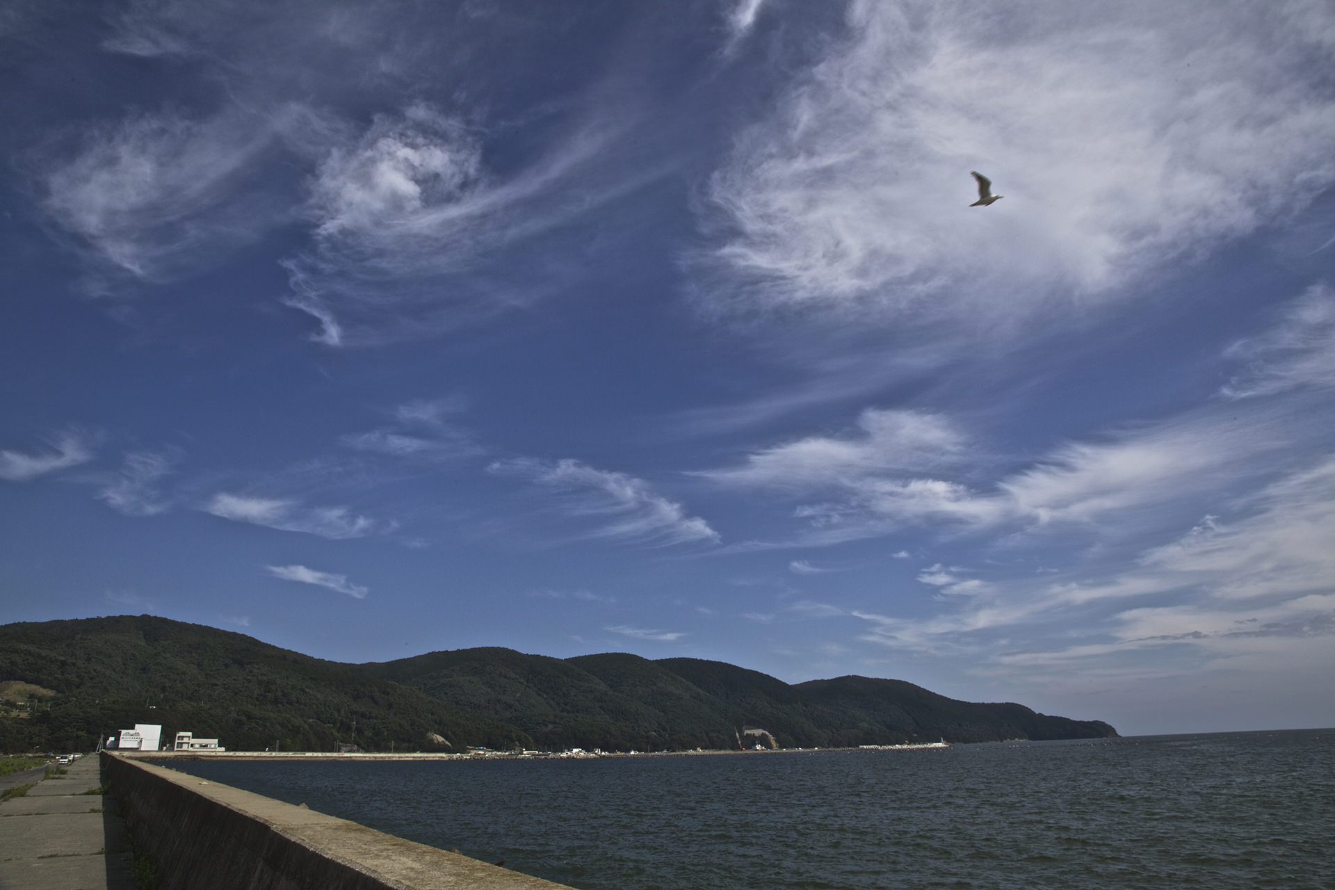
[[[517,476],[567,495],[566,510],[577,516],[603,518],[595,538],[641,540],[662,546],[717,543],[718,532],[704,519],[689,516],[681,504],[654,494],[643,479],[597,470],[573,459],[497,460],[489,470]]]

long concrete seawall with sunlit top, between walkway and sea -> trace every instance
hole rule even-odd
[[[101,766],[163,890],[569,890],[160,766]]]

